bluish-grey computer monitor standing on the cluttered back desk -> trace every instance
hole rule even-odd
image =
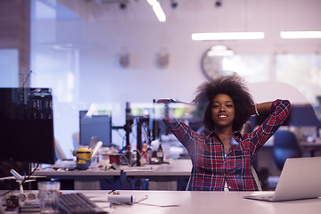
[[[111,145],[111,115],[87,115],[79,111],[79,144],[89,145],[92,137],[97,137],[103,146]]]

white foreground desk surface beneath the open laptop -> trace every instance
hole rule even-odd
[[[1,192],[1,191],[0,191]],[[69,193],[70,191],[64,191]],[[72,191],[71,191],[72,192]],[[110,210],[110,204],[104,202],[109,191],[81,191],[104,210]],[[259,202],[243,199],[252,192],[189,192],[189,191],[119,191],[120,195],[133,195],[136,198],[147,195],[143,202],[133,205],[113,205],[111,213],[246,213],[246,214],[319,214],[321,198],[289,201]],[[257,192],[258,193],[258,192]],[[260,192],[271,193],[271,192]],[[100,201],[100,202],[99,202]],[[102,202],[103,201],[103,202]]]

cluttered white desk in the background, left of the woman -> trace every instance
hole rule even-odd
[[[119,170],[104,171],[100,169],[57,171],[54,169],[37,170],[35,176],[47,178],[72,179],[75,190],[99,190],[100,181],[108,177],[126,177],[149,179],[150,190],[177,190],[179,178],[188,179],[192,169],[190,160],[170,160],[169,164],[146,165],[144,167],[120,166]]]

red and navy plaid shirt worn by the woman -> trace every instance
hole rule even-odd
[[[198,134],[180,119],[164,119],[191,157],[193,168],[188,190],[223,191],[225,183],[230,191],[258,190],[251,174],[252,161],[259,148],[284,123],[290,108],[287,100],[273,102],[268,119],[259,128],[244,135],[235,132],[226,156],[223,143],[214,132]]]

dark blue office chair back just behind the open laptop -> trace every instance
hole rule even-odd
[[[288,158],[300,158],[302,152],[294,134],[288,130],[277,130],[274,134],[273,155],[277,169],[282,170]]]

